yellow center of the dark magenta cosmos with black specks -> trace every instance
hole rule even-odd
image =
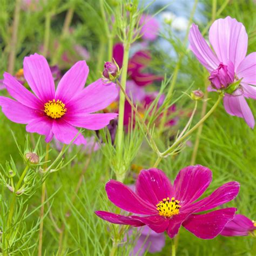
[[[164,198],[157,204],[159,215],[164,217],[172,217],[172,215],[179,214],[180,207],[181,206],[179,205],[179,201],[175,200],[174,197],[172,197],[171,200],[169,197]]]

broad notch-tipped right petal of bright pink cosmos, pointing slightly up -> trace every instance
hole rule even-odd
[[[70,112],[92,113],[105,109],[117,96],[118,90],[116,85],[114,83],[106,85],[100,78],[73,97],[69,104],[67,104],[67,107]]]

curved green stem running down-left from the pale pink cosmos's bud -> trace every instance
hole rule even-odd
[[[212,106],[212,108],[210,109],[210,111],[196,124],[192,127],[191,130],[189,130],[187,133],[185,133],[181,138],[179,138],[178,140],[176,140],[176,142],[173,143],[173,145],[171,147],[169,147],[169,149],[167,149],[166,151],[164,151],[161,156],[165,157],[167,156],[170,152],[172,152],[173,149],[175,149],[175,147],[177,147],[185,138],[187,138],[188,136],[190,136],[190,134],[197,130],[197,128],[203,124],[205,122],[205,120],[211,116],[212,112],[216,109],[216,107],[219,105],[220,100],[223,98],[222,95],[219,95],[217,102],[215,102],[215,104]]]

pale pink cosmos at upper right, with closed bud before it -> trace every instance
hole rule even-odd
[[[246,56],[248,36],[244,25],[231,17],[213,22],[209,41],[215,53],[195,24],[190,29],[189,40],[190,49],[211,74],[212,88],[225,92],[227,113],[244,118],[253,128],[254,117],[245,98],[256,99],[256,52]],[[231,86],[240,79],[238,86]]]

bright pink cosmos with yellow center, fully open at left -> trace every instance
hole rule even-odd
[[[104,109],[118,95],[116,85],[105,86],[102,79],[84,88],[89,68],[79,61],[65,73],[57,89],[47,60],[35,53],[24,58],[24,77],[31,90],[20,84],[9,73],[4,73],[4,84],[15,99],[0,97],[0,106],[12,122],[26,124],[27,132],[45,135],[50,142],[53,136],[69,144],[78,134],[74,127],[99,130],[117,116],[116,113],[92,113]],[[85,144],[79,134],[75,144]]]

